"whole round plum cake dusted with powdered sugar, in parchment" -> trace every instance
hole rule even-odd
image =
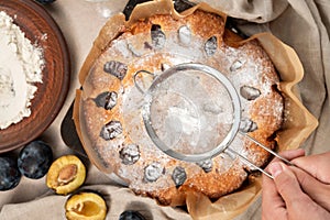
[[[79,125],[91,161],[135,193],[164,205],[183,204],[187,191],[219,198],[239,188],[248,176],[246,166],[229,152],[190,163],[160,150],[144,124],[145,101],[146,119],[167,146],[183,154],[191,146],[197,154],[210,151],[233,128],[234,99],[217,78],[198,72],[162,80],[177,66],[201,64],[222,73],[234,87],[241,102],[240,129],[274,147],[283,99],[267,54],[256,41],[229,46],[223,41],[223,19],[200,10],[179,20],[153,15],[122,30],[95,61],[82,85]],[[151,88],[152,100],[146,96]],[[230,147],[256,165],[268,157],[240,135]]]

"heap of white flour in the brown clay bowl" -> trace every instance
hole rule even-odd
[[[11,16],[0,11],[0,129],[31,114],[31,100],[42,82],[43,52]]]

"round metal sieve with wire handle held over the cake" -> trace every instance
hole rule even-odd
[[[138,77],[143,74],[154,77],[146,89],[138,82]],[[222,152],[231,152],[273,178],[230,147],[234,138],[242,134],[290,164],[240,130],[240,97],[232,82],[219,70],[202,64],[179,64],[158,76],[139,70],[134,75],[134,84],[144,95],[142,118],[146,132],[153,143],[167,155],[196,163]]]

